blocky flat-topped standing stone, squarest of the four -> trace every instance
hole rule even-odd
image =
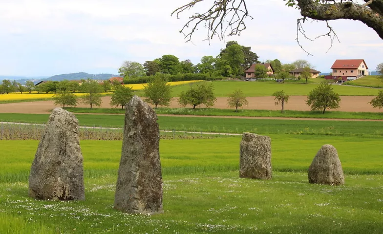
[[[271,139],[244,132],[240,145],[239,177],[271,179]]]

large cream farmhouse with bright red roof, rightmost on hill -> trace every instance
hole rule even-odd
[[[326,76],[326,79],[339,79],[343,81],[355,80],[362,76],[368,76],[368,67],[364,59],[338,59],[331,66],[332,76]]]

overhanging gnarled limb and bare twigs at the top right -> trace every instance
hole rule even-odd
[[[191,15],[186,24],[180,30],[185,35],[187,41],[191,40],[193,33],[198,30],[198,26],[205,26],[208,30],[208,39],[217,36],[223,39],[225,36],[240,35],[246,29],[245,20],[251,18],[246,5],[249,0],[215,0],[211,4],[206,4],[208,9]],[[300,11],[302,18],[298,19],[297,31],[305,36],[302,29],[302,22],[307,18],[316,21],[326,21],[328,33],[321,36],[329,36],[331,45],[337,38],[333,28],[328,21],[331,20],[356,20],[361,21],[368,27],[375,30],[379,37],[383,39],[383,4],[382,0],[284,0],[288,7],[296,8]],[[179,15],[194,6],[203,5],[204,0],[191,0],[191,2],[178,7],[172,13],[178,18]],[[224,35],[227,32],[227,35]],[[298,40],[297,33],[297,42]],[[319,36],[319,37],[321,37]],[[318,38],[318,37],[317,37]]]

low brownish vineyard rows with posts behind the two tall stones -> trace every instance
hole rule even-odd
[[[45,132],[45,124],[25,124],[0,122],[0,140],[40,140]],[[81,140],[122,140],[123,128],[81,126]],[[160,131],[160,139],[205,139],[227,136],[227,134],[207,134],[205,132],[165,129]]]

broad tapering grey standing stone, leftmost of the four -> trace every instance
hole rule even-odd
[[[55,108],[49,116],[29,175],[29,196],[43,200],[85,200],[79,122]]]

